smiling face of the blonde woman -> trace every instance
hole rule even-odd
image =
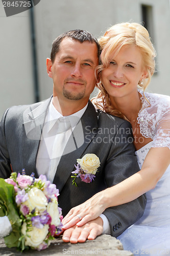
[[[111,97],[124,97],[137,91],[139,80],[147,72],[142,65],[142,54],[136,46],[123,46],[109,67],[102,70],[101,80]]]

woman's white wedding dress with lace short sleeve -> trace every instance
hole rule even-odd
[[[140,132],[153,139],[136,152],[141,168],[151,147],[170,149],[170,97],[145,93],[150,105],[140,93],[142,109],[137,118]],[[143,216],[117,239],[134,255],[170,255],[170,165],[156,187],[148,191]]]

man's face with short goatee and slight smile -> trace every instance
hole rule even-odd
[[[64,38],[54,63],[47,59],[48,76],[53,78],[53,96],[67,100],[88,100],[96,79],[98,49],[88,41]]]

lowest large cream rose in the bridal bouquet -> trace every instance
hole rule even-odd
[[[48,225],[44,225],[43,228],[33,227],[32,231],[27,231],[28,236],[26,236],[25,245],[37,248],[46,238],[48,233]],[[27,224],[23,223],[21,232],[26,235]]]

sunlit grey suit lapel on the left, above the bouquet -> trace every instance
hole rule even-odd
[[[34,172],[36,177],[38,175],[36,170],[36,156],[41,139],[42,127],[50,101],[51,98],[42,101],[35,109],[32,109],[34,106],[32,105],[23,113],[23,166],[26,168],[27,172]]]

